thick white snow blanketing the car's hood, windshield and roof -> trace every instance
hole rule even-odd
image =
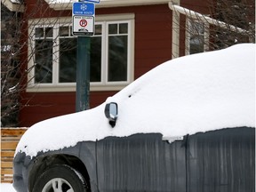
[[[116,126],[104,115],[118,104]],[[28,156],[84,140],[160,132],[179,137],[255,124],[255,44],[237,44],[170,60],[117,92],[97,108],[37,123],[16,149]]]

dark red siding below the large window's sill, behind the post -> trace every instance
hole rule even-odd
[[[91,92],[90,104],[94,108],[116,92]],[[76,112],[76,92],[24,93],[24,107],[20,108],[20,124],[30,126],[53,116]],[[27,103],[27,104],[25,104]]]

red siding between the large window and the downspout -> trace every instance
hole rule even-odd
[[[172,11],[168,4],[135,12],[135,78],[172,58]]]

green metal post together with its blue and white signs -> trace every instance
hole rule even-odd
[[[72,7],[72,32],[77,36],[76,112],[90,108],[90,36],[94,34],[94,12],[94,4],[83,0],[74,3]]]

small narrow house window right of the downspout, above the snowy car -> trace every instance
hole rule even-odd
[[[187,19],[186,54],[204,52],[209,47],[208,25],[199,20]]]

